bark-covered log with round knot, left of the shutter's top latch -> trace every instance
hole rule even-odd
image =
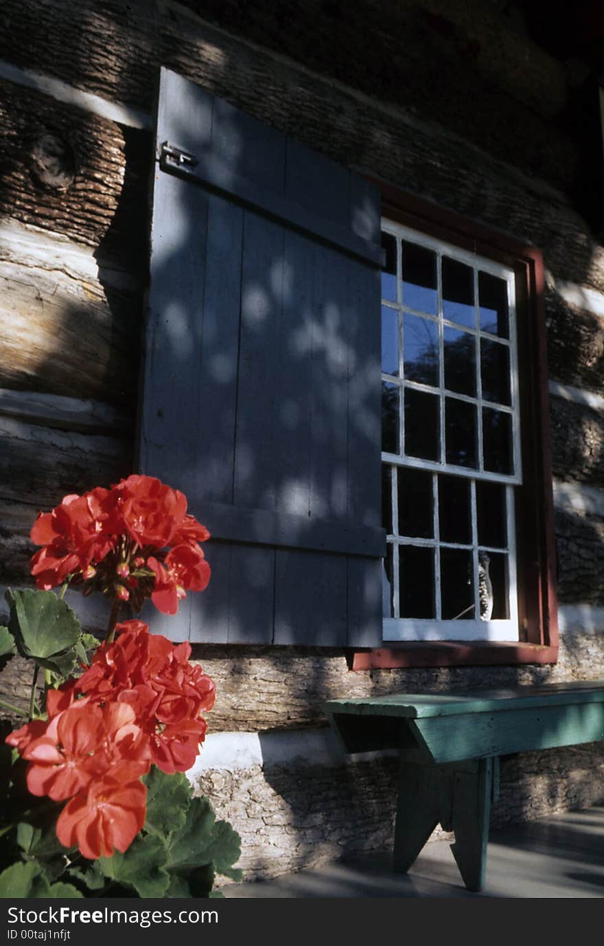
[[[146,272],[147,131],[0,80],[5,216],[94,246]]]

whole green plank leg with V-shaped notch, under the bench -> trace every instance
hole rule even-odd
[[[468,890],[481,890],[487,867],[492,759],[449,765],[403,762],[393,867],[406,873],[436,826],[455,832],[451,850]]]

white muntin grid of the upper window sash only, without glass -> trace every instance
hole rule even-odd
[[[492,260],[486,259],[483,256],[478,254],[468,253],[464,250],[457,250],[456,247],[450,246],[447,243],[442,242],[439,239],[425,236],[421,233],[418,233],[415,230],[411,230],[408,227],[401,226],[398,223],[393,223],[390,220],[382,221],[382,230],[386,233],[391,234],[396,237],[396,257],[397,257],[397,276],[396,276],[396,288],[397,288],[397,302],[392,302],[388,300],[383,300],[382,305],[384,307],[392,308],[398,311],[398,341],[399,341],[399,375],[393,376],[386,373],[382,374],[384,380],[388,381],[391,384],[396,385],[399,391],[399,444],[401,447],[400,454],[391,454],[383,453],[383,458],[388,463],[398,463],[402,461],[408,465],[418,466],[424,469],[440,469],[442,472],[452,472],[460,476],[467,477],[476,477],[478,479],[485,480],[496,480],[498,482],[522,482],[522,464],[520,459],[520,416],[519,416],[519,396],[518,396],[518,359],[517,359],[517,345],[516,345],[516,306],[515,306],[515,291],[514,291],[514,274],[509,268],[502,266],[501,264],[495,263]],[[408,240],[409,242],[417,243],[423,246],[427,250],[431,250],[437,254],[437,273],[438,273],[438,313],[436,315],[423,312],[420,309],[411,308],[406,306],[402,300],[403,292],[403,280],[402,276],[402,248],[401,240]],[[442,312],[442,270],[441,270],[441,260],[442,256],[446,256],[449,259],[454,259],[458,262],[465,263],[470,266],[474,273],[474,298],[475,298],[475,327],[470,327],[464,324],[459,324],[453,322],[449,319],[443,317]],[[478,312],[478,291],[477,291],[477,280],[478,272],[489,272],[493,276],[497,276],[502,279],[508,287],[508,319],[509,319],[509,339],[501,338],[500,336],[493,335],[491,332],[487,332],[484,329],[480,328],[479,322],[479,312]],[[428,385],[423,384],[418,381],[406,380],[404,377],[404,358],[403,358],[403,313],[409,312],[411,315],[421,316],[423,319],[437,324],[439,326],[439,385]],[[443,357],[443,329],[445,327],[455,328],[457,330],[463,330],[468,335],[473,336],[476,339],[476,396],[471,396],[468,394],[460,394],[458,392],[453,392],[447,389],[444,386],[444,357]],[[498,344],[505,346],[509,350],[509,394],[510,394],[510,404],[500,404],[491,400],[483,399],[482,397],[482,377],[480,370],[480,339],[486,339],[488,341],[497,342]],[[422,458],[414,457],[412,455],[407,455],[405,453],[405,429],[404,429],[404,409],[402,398],[404,397],[404,392],[406,389],[424,391],[433,395],[438,395],[440,397],[440,460],[439,461],[430,461],[423,460]],[[476,437],[477,437],[477,457],[478,457],[478,467],[470,466],[457,466],[455,464],[447,464],[445,459],[445,437],[444,437],[444,412],[445,412],[445,396],[451,399],[458,401],[464,401],[475,405],[476,408]],[[511,450],[512,450],[512,470],[511,474],[503,473],[492,473],[492,471],[484,470],[484,458],[483,458],[483,443],[482,443],[482,410],[483,408],[496,410],[501,413],[509,414],[511,417]]]

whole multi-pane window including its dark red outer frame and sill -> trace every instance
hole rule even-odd
[[[542,256],[381,195],[383,643],[350,665],[555,662]]]

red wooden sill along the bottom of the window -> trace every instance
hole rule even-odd
[[[556,663],[558,646],[526,642],[439,640],[397,644],[377,650],[354,650],[353,671],[403,667],[463,667]]]

